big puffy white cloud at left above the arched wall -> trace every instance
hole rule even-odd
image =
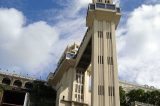
[[[23,13],[13,8],[0,8],[0,17],[0,67],[42,71],[52,61],[56,28],[43,21],[26,25]]]

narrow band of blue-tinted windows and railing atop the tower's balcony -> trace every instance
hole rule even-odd
[[[104,4],[104,3],[89,4],[88,10],[95,10],[95,9],[109,9],[109,10],[115,10],[116,12],[120,13],[120,8],[117,8],[114,4]]]

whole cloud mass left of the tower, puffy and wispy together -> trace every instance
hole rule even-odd
[[[56,22],[26,24],[26,17],[16,9],[0,9],[0,67],[23,73],[44,75],[54,71],[68,44],[80,43],[84,36],[85,16],[79,13],[91,0],[59,1],[63,8],[46,10],[43,16]],[[12,18],[10,18],[12,17]],[[52,18],[50,18],[52,17]],[[56,51],[56,52],[55,52]],[[45,71],[44,71],[45,70]]]

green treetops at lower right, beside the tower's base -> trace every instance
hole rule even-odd
[[[129,106],[131,102],[135,101],[160,106],[160,91],[145,92],[143,89],[137,89],[126,93],[122,87],[119,89],[121,106]]]

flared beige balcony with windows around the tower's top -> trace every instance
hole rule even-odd
[[[86,26],[92,27],[94,19],[114,21],[115,26],[119,23],[121,18],[121,9],[115,4],[108,3],[91,3],[88,6]]]

